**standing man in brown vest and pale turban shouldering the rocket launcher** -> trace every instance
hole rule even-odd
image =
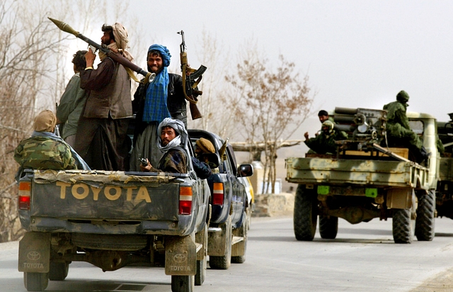
[[[127,30],[120,23],[103,25],[101,42],[113,52],[133,60],[127,52]],[[103,52],[93,69],[96,55],[88,50],[86,68],[80,72],[81,88],[88,98],[81,113],[74,149],[92,169],[127,170],[131,147],[127,128],[132,117],[130,74]]]

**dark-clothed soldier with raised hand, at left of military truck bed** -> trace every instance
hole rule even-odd
[[[335,154],[337,145],[335,141],[348,139],[348,134],[343,131],[335,130],[331,120],[325,120],[321,126],[321,133],[314,138],[309,138],[309,133],[304,134],[305,145],[310,148],[311,153]]]

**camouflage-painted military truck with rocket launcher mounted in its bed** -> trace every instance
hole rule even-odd
[[[297,240],[314,239],[318,216],[319,233],[326,239],[336,238],[338,218],[352,224],[392,218],[396,243],[411,243],[414,231],[418,240],[432,240],[439,161],[435,118],[407,114],[430,152],[420,165],[408,159],[408,149],[386,147],[386,111],[336,108],[333,116],[336,129],[348,133],[348,140],[336,142],[336,155],[306,153],[286,159],[287,181],[299,184],[294,202]]]

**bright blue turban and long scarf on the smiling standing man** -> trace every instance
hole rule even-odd
[[[168,90],[168,71],[167,67],[170,64],[170,51],[163,45],[151,45],[148,53],[151,50],[156,50],[161,54],[162,68],[154,78],[153,82],[147,88],[147,94],[144,101],[144,110],[142,120],[145,122],[161,123],[164,118],[170,117],[170,112],[167,108],[167,90]],[[160,134],[160,132],[159,132]]]

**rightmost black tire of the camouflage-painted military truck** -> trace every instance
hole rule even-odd
[[[431,241],[434,238],[436,197],[434,191],[418,196],[415,236],[418,241]]]

